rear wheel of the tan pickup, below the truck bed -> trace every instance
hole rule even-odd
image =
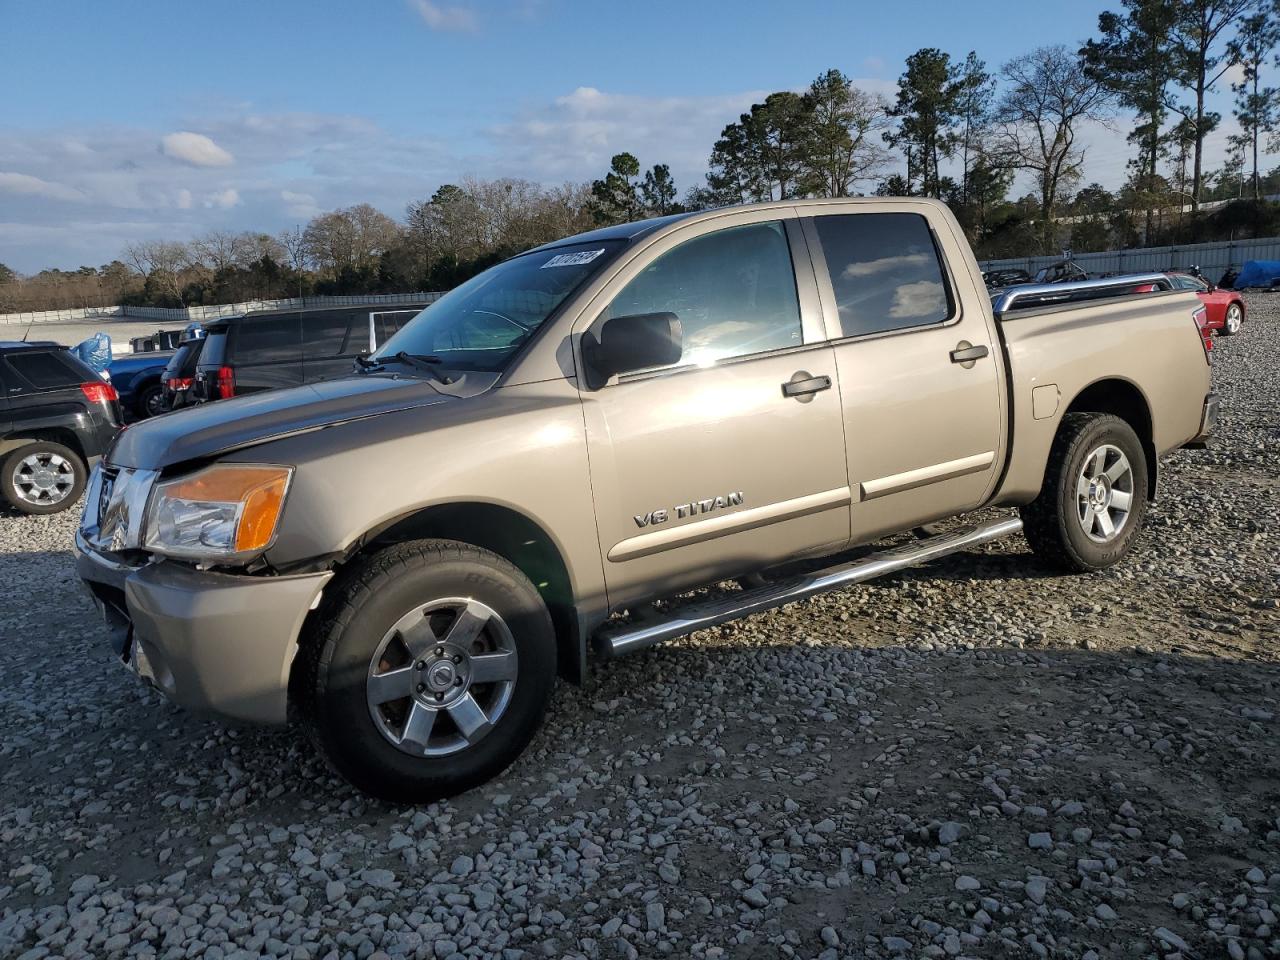
[[[1068,413],[1050,448],[1039,497],[1021,508],[1032,550],[1060,570],[1117,563],[1147,513],[1147,456],[1110,413]]]

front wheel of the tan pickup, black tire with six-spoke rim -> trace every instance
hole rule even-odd
[[[556,681],[556,635],[515,566],[416,540],[361,561],[326,594],[294,690],[312,741],[358,790],[438,800],[529,745]]]

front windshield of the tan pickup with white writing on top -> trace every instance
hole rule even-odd
[[[498,264],[431,303],[387,340],[374,358],[408,353],[438,358],[442,366],[454,370],[502,370],[620,244],[572,243]]]

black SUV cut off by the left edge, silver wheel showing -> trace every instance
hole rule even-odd
[[[58,343],[0,340],[0,499],[56,513],[120,429],[115,388]]]

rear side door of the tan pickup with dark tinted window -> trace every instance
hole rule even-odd
[[[932,207],[804,221],[840,374],[854,541],[977,507],[1004,460],[989,310],[965,310]]]

